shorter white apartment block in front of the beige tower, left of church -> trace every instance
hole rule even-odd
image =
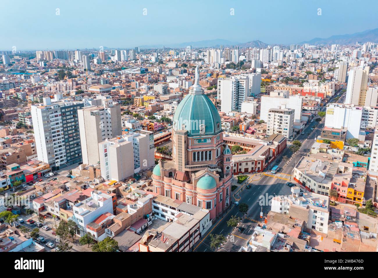
[[[98,144],[101,176],[124,180],[155,165],[153,132],[138,130]]]

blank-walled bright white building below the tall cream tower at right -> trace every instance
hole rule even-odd
[[[325,113],[326,127],[347,129],[346,138],[359,138],[363,107],[344,105],[340,103],[328,104]]]

